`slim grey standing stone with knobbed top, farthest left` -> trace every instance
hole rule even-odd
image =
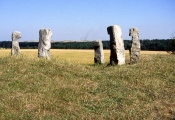
[[[20,47],[18,39],[21,38],[21,33],[19,31],[15,31],[12,33],[12,49],[11,49],[11,55],[16,56],[20,54]]]

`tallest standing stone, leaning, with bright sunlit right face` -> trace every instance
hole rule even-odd
[[[120,26],[114,25],[107,28],[110,35],[110,64],[123,65],[125,64],[125,48],[122,38],[122,30]]]

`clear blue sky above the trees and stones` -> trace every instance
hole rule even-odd
[[[175,0],[0,0],[0,41],[39,39],[49,28],[52,40],[109,40],[107,27],[119,25],[123,39],[129,29],[140,39],[169,39],[175,33]]]

